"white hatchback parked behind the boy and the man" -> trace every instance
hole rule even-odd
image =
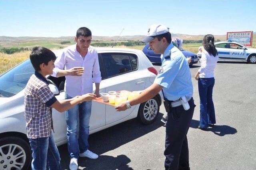
[[[157,71],[141,50],[97,50],[102,73],[100,92],[144,90],[154,82]],[[55,51],[55,54],[58,56],[60,51]],[[24,118],[24,88],[32,74],[34,68],[30,60],[26,60],[0,76],[0,170],[26,170],[30,166],[31,150],[26,138]],[[64,100],[65,77],[48,76],[48,79],[56,98]],[[136,117],[143,124],[150,124],[156,120],[162,101],[162,93],[159,93],[123,112],[116,112],[113,106],[92,102],[90,134]],[[55,109],[52,112],[54,140],[59,146],[66,143],[65,113]]]

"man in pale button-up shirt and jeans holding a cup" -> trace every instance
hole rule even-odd
[[[65,76],[65,98],[73,98],[86,93],[92,93],[95,83],[95,93],[100,96],[101,73],[96,49],[90,46],[92,32],[79,28],[76,32],[76,44],[64,48],[62,55],[55,61],[52,76]],[[78,169],[78,157],[97,159],[98,155],[88,150],[89,120],[92,102],[82,102],[72,109],[66,110],[68,152],[70,154],[70,170]],[[77,127],[79,118],[79,139]]]

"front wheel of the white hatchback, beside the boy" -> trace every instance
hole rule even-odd
[[[0,139],[0,170],[27,170],[31,162],[31,149],[24,139]]]

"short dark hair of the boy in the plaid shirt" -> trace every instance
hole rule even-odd
[[[55,54],[44,47],[34,47],[30,54],[30,61],[36,71],[40,71],[40,64],[44,63],[46,66],[50,60],[55,61]]]

